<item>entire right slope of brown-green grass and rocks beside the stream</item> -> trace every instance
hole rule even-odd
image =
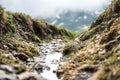
[[[64,48],[72,59],[56,71],[62,80],[120,79],[120,0]]]

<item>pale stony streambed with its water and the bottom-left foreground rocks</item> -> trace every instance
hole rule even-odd
[[[49,43],[43,42],[36,44],[40,49],[38,57],[27,59],[27,61],[19,65],[0,65],[0,79],[1,80],[58,80],[55,70],[66,62],[63,58],[63,47],[65,41],[61,39],[54,39]],[[11,55],[4,55],[15,58]],[[24,71],[24,67],[27,70]],[[23,67],[23,71],[22,71]],[[19,71],[19,72],[18,72]],[[21,71],[21,73],[20,73]]]

